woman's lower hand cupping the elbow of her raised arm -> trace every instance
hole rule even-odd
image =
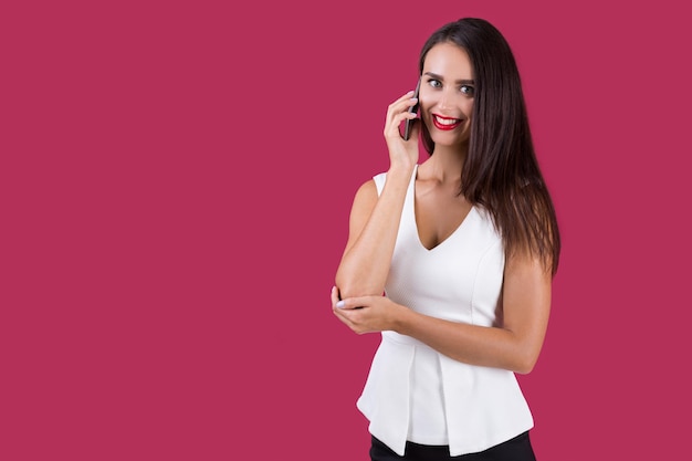
[[[332,289],[334,315],[359,335],[395,331],[402,308],[405,307],[386,296],[358,296],[339,301],[338,290]]]

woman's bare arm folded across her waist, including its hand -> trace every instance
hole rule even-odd
[[[530,256],[513,256],[505,266],[503,325],[486,327],[417,313],[384,296],[335,303],[335,314],[356,333],[395,331],[471,365],[530,373],[541,353],[551,310],[552,276]],[[363,307],[356,310],[355,307]]]

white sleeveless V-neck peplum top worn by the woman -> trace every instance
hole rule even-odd
[[[416,224],[413,170],[386,295],[426,315],[473,325],[502,323],[504,251],[490,216],[473,207],[457,230],[428,250]],[[386,175],[375,178],[381,193]],[[397,454],[406,441],[474,453],[533,427],[514,373],[453,360],[412,337],[382,332],[358,409],[369,431]]]

